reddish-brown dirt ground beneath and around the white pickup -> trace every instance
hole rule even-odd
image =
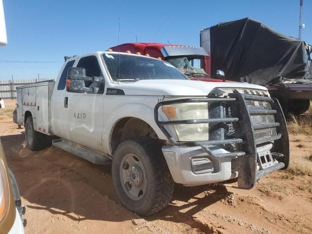
[[[10,115],[0,118],[0,138],[26,206],[26,234],[312,233],[311,176],[278,171],[251,190],[235,189],[235,183],[176,186],[166,209],[139,217],[119,204],[109,165],[54,146],[28,150],[24,129]],[[291,136],[292,155],[311,156],[311,142],[312,137]]]

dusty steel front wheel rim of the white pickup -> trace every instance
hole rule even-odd
[[[141,160],[134,154],[123,156],[119,166],[120,183],[132,200],[142,199],[146,192],[146,174]]]

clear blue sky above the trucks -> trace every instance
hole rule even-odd
[[[0,47],[0,79],[56,78],[65,55],[120,43],[199,45],[199,31],[251,17],[297,37],[299,0],[3,0],[8,45]],[[312,44],[312,0],[303,2],[302,39]]]

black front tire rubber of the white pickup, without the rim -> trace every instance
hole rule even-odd
[[[122,158],[127,154],[136,155],[145,169],[147,188],[138,201],[126,195],[121,185],[119,168]],[[112,174],[121,204],[137,215],[155,214],[171,202],[175,183],[162,154],[161,145],[155,139],[139,137],[120,143],[113,156]]]

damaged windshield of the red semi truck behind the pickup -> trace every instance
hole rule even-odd
[[[175,66],[180,72],[182,72],[186,76],[208,76],[203,69],[193,67],[191,62],[186,57],[167,59],[167,62]]]

